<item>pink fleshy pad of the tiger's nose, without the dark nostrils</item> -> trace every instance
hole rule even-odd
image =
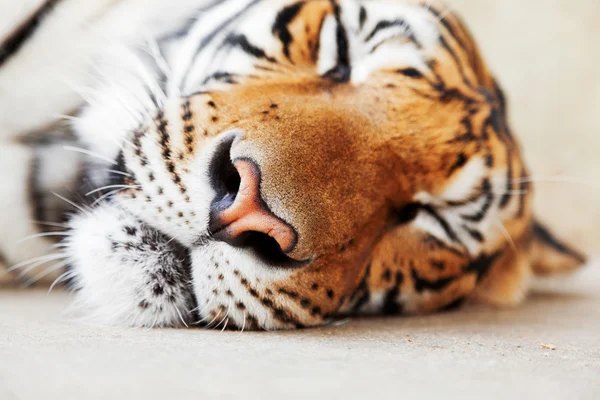
[[[275,216],[263,201],[260,194],[260,172],[248,160],[234,162],[240,178],[235,200],[216,215],[219,231],[216,236],[226,241],[235,241],[245,233],[260,232],[275,239],[284,253],[294,249],[297,241],[295,230]]]

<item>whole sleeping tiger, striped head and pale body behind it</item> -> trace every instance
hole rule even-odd
[[[509,306],[585,261],[534,218],[504,95],[435,2],[38,3],[0,32],[0,251],[89,321]]]

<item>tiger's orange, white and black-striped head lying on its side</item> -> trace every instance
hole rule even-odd
[[[84,114],[118,177],[92,168],[99,197],[65,242],[90,315],[289,329],[515,304],[532,274],[583,262],[534,222],[504,97],[455,15],[269,0],[219,20],[234,6],[129,75],[143,118],[114,87]]]

